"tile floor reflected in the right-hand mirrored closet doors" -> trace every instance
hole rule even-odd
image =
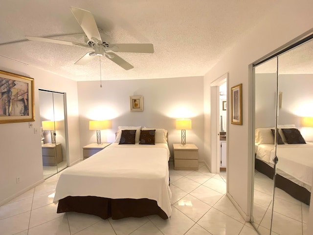
[[[269,235],[272,211],[273,180],[255,170],[254,225]],[[310,207],[280,188],[275,189],[272,235],[311,235],[308,229]]]

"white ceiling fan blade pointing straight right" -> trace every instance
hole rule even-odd
[[[137,53],[154,52],[153,44],[150,43],[111,44],[110,46],[112,46],[112,51],[115,52],[137,52]]]

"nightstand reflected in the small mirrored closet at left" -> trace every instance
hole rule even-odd
[[[61,143],[44,143],[41,148],[43,151],[43,165],[57,165],[62,162]]]

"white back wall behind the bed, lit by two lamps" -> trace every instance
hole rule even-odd
[[[203,160],[203,77],[147,80],[78,82],[81,148],[96,142],[89,120],[111,119],[112,129],[101,133],[101,141],[113,142],[118,126],[147,126],[168,130],[169,147],[180,143],[177,118],[191,118],[186,142],[195,143]],[[130,112],[129,96],[143,95],[143,112]],[[81,150],[82,154],[82,150]]]

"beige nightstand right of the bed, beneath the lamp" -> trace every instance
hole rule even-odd
[[[180,145],[173,143],[174,169],[175,170],[198,170],[198,147],[193,143]]]

